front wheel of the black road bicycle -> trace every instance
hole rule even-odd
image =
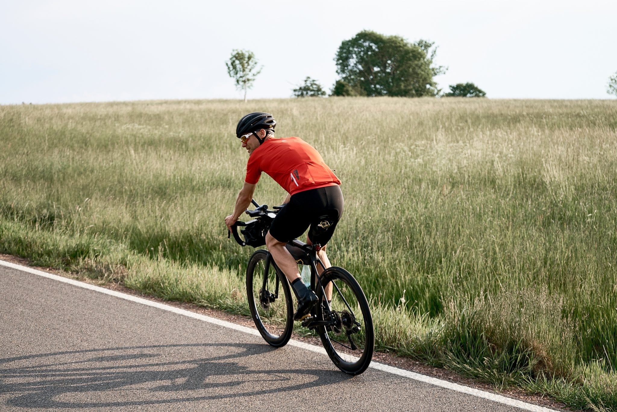
[[[294,308],[289,282],[276,267],[271,256],[268,272],[265,271],[268,256],[268,251],[263,249],[256,250],[251,255],[246,270],[246,292],[251,316],[257,330],[271,346],[280,348],[286,345],[291,338],[294,327]],[[266,293],[263,292],[264,284]],[[278,293],[276,293],[277,284]]]

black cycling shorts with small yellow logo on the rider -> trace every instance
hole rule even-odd
[[[287,243],[309,229],[313,245],[325,246],[343,212],[343,193],[339,185],[300,191],[292,195],[270,226],[270,235]]]

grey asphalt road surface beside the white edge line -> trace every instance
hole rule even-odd
[[[520,411],[0,266],[0,411]]]

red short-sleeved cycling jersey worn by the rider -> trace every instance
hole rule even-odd
[[[255,149],[246,164],[244,181],[254,185],[262,172],[290,195],[341,184],[321,154],[299,137],[271,137]]]

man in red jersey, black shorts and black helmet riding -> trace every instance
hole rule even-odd
[[[302,235],[307,235],[309,245],[321,245],[317,252],[325,267],[330,267],[326,255],[326,243],[332,237],[343,211],[341,180],[325,164],[313,146],[298,137],[275,138],[276,120],[269,113],[254,112],[242,117],[236,126],[236,137],[249,152],[244,187],[238,194],[233,214],[225,218],[231,226],[251,204],[255,185],[262,172],[270,175],[288,195],[283,208],[278,212],[266,235],[266,245],[277,266],[283,271],[298,300],[295,320],[309,316],[317,303],[317,296],[300,278],[298,265],[285,244]],[[325,290],[326,299],[332,299],[332,285]]]

